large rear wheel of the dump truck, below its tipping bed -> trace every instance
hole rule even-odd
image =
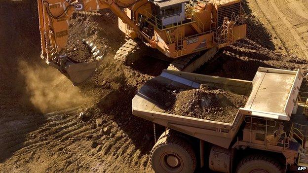
[[[193,173],[196,167],[192,146],[176,136],[160,138],[150,159],[155,173]]]

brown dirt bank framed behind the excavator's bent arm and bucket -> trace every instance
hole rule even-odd
[[[77,63],[94,61],[91,47],[99,50],[103,57],[112,56],[124,43],[124,34],[117,27],[117,17],[109,9],[100,11],[102,15],[74,13],[70,20],[67,55]],[[85,41],[82,41],[85,39]],[[86,43],[88,41],[88,43]],[[96,55],[97,56],[97,55]]]

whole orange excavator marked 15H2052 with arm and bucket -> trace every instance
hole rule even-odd
[[[192,72],[246,36],[241,0],[38,0],[41,58],[73,83],[86,80],[99,58],[77,63],[67,56],[70,17],[104,8],[118,16],[118,28],[129,38],[115,55],[124,64],[136,58],[130,55],[138,44],[145,44],[172,60],[168,69]],[[101,56],[88,45],[94,57]]]

